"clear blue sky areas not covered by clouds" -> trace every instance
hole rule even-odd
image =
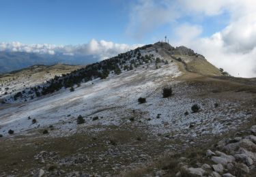
[[[145,35],[138,39],[126,30],[132,7],[137,3],[140,1],[1,0],[0,42],[84,44],[94,38],[147,44],[164,35],[174,39],[173,26],[181,22],[202,25],[202,36],[212,35],[227,25],[227,16],[224,19],[223,14],[214,19],[200,19],[188,14],[153,31],[145,31]]]

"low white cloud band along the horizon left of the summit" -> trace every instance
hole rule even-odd
[[[53,44],[22,44],[20,42],[0,43],[0,51],[6,52],[33,52],[38,54],[64,54],[69,56],[91,55],[95,59],[102,60],[113,57],[116,54],[133,50],[142,44],[115,44],[104,40],[91,39],[87,44],[56,46]]]

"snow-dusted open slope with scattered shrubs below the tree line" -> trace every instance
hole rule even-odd
[[[175,62],[160,69],[150,64],[118,76],[111,74],[105,80],[86,82],[74,92],[63,88],[48,97],[1,110],[0,133],[8,136],[9,129],[15,134],[33,133],[53,125],[55,133],[50,135],[63,136],[85,127],[100,131],[105,125],[135,123],[147,126],[149,133],[188,138],[227,131],[250,116],[239,110],[240,103],[222,101],[221,108],[214,109],[218,99],[191,97],[191,88],[175,80],[181,75]],[[173,86],[173,97],[162,98],[165,86]],[[145,97],[147,102],[139,104],[139,97]],[[190,113],[194,103],[201,106],[201,112]],[[184,114],[186,111],[189,115]],[[77,125],[79,115],[85,118],[85,124]],[[96,116],[99,119],[93,120]],[[33,118],[37,123],[31,122]]]

